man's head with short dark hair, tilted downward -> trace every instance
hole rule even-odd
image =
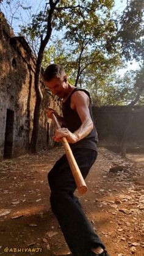
[[[59,98],[65,96],[65,90],[68,87],[67,75],[60,65],[49,65],[44,73],[45,86],[51,90],[54,95]]]

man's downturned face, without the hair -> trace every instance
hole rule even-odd
[[[63,98],[67,89],[67,81],[65,78],[52,78],[50,81],[45,81],[45,86],[51,90],[52,94]]]

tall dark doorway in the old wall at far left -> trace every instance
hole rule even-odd
[[[12,157],[14,111],[7,109],[5,126],[4,158]]]

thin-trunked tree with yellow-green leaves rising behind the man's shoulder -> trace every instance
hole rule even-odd
[[[85,3],[85,1],[81,2]],[[113,2],[112,0],[93,1],[89,2],[87,6],[84,5],[83,8],[80,3],[74,13],[71,9],[68,11],[68,7],[60,9],[62,18],[60,23],[56,25],[56,29],[65,27],[65,40],[67,45],[71,45],[71,54],[77,68],[75,86],[77,86],[79,78],[88,67],[95,65],[96,68],[99,68],[99,64],[103,62],[103,59],[106,59],[107,34],[112,36],[115,33],[115,23],[110,17]],[[73,19],[70,19],[70,16]],[[118,57],[117,51],[113,52],[114,56],[116,54]],[[98,59],[96,59],[97,57]],[[107,56],[107,59],[110,57],[113,59],[113,56]],[[102,66],[106,71],[104,62],[101,68]]]

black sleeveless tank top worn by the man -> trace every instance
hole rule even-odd
[[[71,95],[76,92],[77,90],[81,90],[85,92],[88,97],[90,98],[90,94],[87,92],[87,90],[76,88],[71,92],[70,96],[67,98],[67,100],[62,104],[62,112],[63,112],[63,118],[65,120],[65,125],[68,128],[68,130],[71,131],[71,133],[74,133],[79,127],[81,126],[82,122],[79,118],[79,115],[77,112],[70,107],[71,103]],[[92,114],[92,103],[90,101],[89,106],[90,116],[93,121],[93,114]],[[95,125],[93,126],[93,130],[81,141],[77,141],[76,143],[72,144],[70,143],[71,149],[73,148],[89,148],[92,150],[97,151],[96,143],[98,142],[98,134],[95,128]]]

